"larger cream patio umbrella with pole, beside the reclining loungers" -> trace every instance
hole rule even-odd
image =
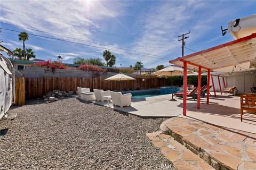
[[[187,71],[187,74],[192,74],[192,73],[193,72],[191,71]],[[181,67],[171,65],[171,66],[165,67],[162,70],[158,70],[153,74],[157,75],[157,77],[170,77],[170,76],[173,77],[173,75],[183,75],[183,69]],[[172,98],[170,99],[170,101],[175,101],[175,99],[173,99],[173,85],[172,85]]]

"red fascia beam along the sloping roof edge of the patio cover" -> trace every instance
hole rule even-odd
[[[202,51],[197,52],[197,53],[189,54],[189,55],[183,56],[183,57],[178,57],[174,60],[170,60],[169,63],[173,63],[173,62],[181,61],[181,60],[187,60],[190,57],[200,55],[200,54],[204,54],[204,53],[207,53],[207,52],[211,52],[212,50],[219,49],[219,48],[222,48],[222,47],[227,47],[227,46],[230,46],[230,45],[241,43],[243,41],[253,39],[253,38],[256,38],[256,33],[252,33],[252,35],[250,35],[250,36],[239,38],[239,39],[236,39],[234,41],[230,41],[230,42],[225,43],[225,44],[221,44],[221,45],[218,45],[218,46],[215,46],[215,47],[212,47],[212,48],[208,48],[208,49],[202,50]]]

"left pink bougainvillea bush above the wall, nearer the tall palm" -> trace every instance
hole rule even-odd
[[[47,60],[46,62],[37,62],[32,64],[32,66],[42,67],[44,69],[51,69],[52,72],[55,72],[56,69],[68,69],[68,66],[66,66],[62,62],[60,61],[52,62],[51,60]]]

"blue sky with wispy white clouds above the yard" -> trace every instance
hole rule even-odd
[[[0,1],[2,45],[26,48],[36,58],[73,63],[75,57],[102,58],[110,50],[115,66],[141,61],[146,68],[182,55],[178,36],[190,31],[184,53],[234,40],[220,26],[256,13],[256,1]]]

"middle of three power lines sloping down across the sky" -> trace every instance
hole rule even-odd
[[[97,44],[97,45],[101,45],[101,46],[106,46],[106,47],[111,47],[111,48],[117,48],[117,49],[123,49],[123,50],[127,50],[127,51],[134,52],[134,53],[141,53],[141,54],[146,54],[146,55],[151,55],[151,56],[156,56],[156,57],[163,57],[163,56],[154,55],[154,54],[148,54],[148,53],[143,53],[143,52],[137,52],[137,51],[134,51],[134,50],[125,49],[125,48],[121,48],[121,47],[114,47],[114,46],[110,46],[110,45],[106,45],[106,44],[95,43],[95,42],[93,42],[93,41],[88,41],[88,40],[83,40],[83,39],[78,39],[78,38],[73,38],[73,37],[58,35],[58,34],[56,34],[56,33],[46,32],[46,31],[42,31],[42,30],[37,30],[37,29],[32,29],[32,28],[27,28],[27,27],[21,27],[21,26],[19,26],[19,25],[10,24],[10,23],[6,23],[6,22],[2,22],[2,21],[0,21],[0,23],[4,23],[4,24],[8,24],[8,25],[13,25],[13,26],[15,26],[15,27],[25,28],[25,29],[29,29],[29,30],[38,31],[38,32],[44,32],[44,33],[52,34],[52,35],[55,35],[55,36],[60,36],[60,37],[66,37],[66,38],[70,38],[70,39],[85,41],[85,42],[87,42],[87,43]]]

